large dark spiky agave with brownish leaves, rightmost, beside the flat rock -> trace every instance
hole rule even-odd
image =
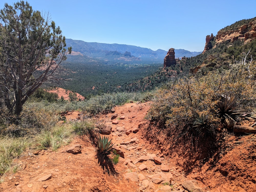
[[[223,120],[228,118],[235,122],[238,120],[239,116],[245,114],[245,110],[237,109],[242,102],[237,102],[237,100],[238,98],[233,94],[224,94],[221,100],[217,103],[219,117]]]

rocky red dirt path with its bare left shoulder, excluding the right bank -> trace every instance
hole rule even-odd
[[[167,182],[173,184],[172,190],[183,191],[180,186],[184,179],[182,170],[142,137],[140,130],[147,126],[148,121],[144,117],[149,108],[150,103],[128,103],[115,107],[114,113],[118,117],[114,120],[118,124],[112,124],[111,113],[100,118],[103,124],[112,127],[109,137],[113,139],[115,148],[123,153],[124,158],[120,157],[119,163],[114,165],[115,174],[108,174],[107,169],[102,169],[88,138],[77,137],[70,145],[56,152],[42,150],[37,155],[24,154],[16,160],[18,171],[6,177],[6,181],[0,184],[0,191],[155,191]],[[82,145],[81,153],[61,152],[76,144]],[[161,165],[154,162],[154,157],[158,157],[158,161],[169,171],[162,171]],[[157,173],[161,174],[155,177],[163,180],[160,184],[156,184],[159,181],[150,181]],[[50,178],[38,181],[44,176]]]

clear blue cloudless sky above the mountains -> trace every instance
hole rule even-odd
[[[13,5],[17,1],[1,1]],[[256,17],[256,0],[28,0],[46,11],[66,38],[151,48],[202,51],[205,37]]]

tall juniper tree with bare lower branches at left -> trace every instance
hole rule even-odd
[[[65,36],[49,14],[28,2],[0,10],[0,96],[9,113],[20,114],[28,97],[43,83],[58,81],[66,60]]]

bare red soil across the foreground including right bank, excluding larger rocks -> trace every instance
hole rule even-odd
[[[121,147],[120,143],[130,141],[132,138],[139,139],[138,144],[127,145],[126,149],[120,148],[124,152],[124,159],[120,158],[112,171],[104,164],[99,165],[98,159],[95,159],[96,149],[88,137],[76,137],[69,146],[61,147],[57,151],[42,150],[38,155],[33,155],[31,151],[24,153],[15,160],[16,164],[20,163],[18,171],[6,175],[5,181],[0,184],[0,191],[156,191],[163,184],[155,185],[155,189],[142,190],[141,182],[128,182],[123,176],[127,172],[136,172],[148,177],[161,172],[161,165],[152,161],[143,162],[148,168],[144,171],[138,169],[138,166],[142,164],[140,162],[136,163],[134,168],[123,164],[127,159],[134,160],[146,153],[164,155],[162,164],[170,168],[174,177],[173,191],[185,191],[180,183],[191,179],[198,180],[199,186],[204,191],[256,191],[256,138],[254,134],[227,136],[224,141],[226,148],[219,160],[216,160],[214,164],[210,163],[210,160],[204,164],[195,163],[191,172],[186,173],[181,163],[186,159],[185,154],[177,155],[175,152],[168,151],[168,146],[165,146],[167,137],[159,135],[159,128],[150,125],[150,122],[145,119],[149,109],[150,102],[116,106],[115,113],[118,117],[115,120],[119,122],[116,125],[110,120],[111,113],[99,118],[99,122],[112,126],[112,134],[109,137],[113,139],[116,147]],[[67,119],[74,120],[78,114],[78,111],[67,114]],[[119,119],[121,116],[125,118]],[[153,140],[146,139],[145,135],[149,126],[151,126],[154,139],[162,143],[162,146],[156,145]],[[139,131],[126,135],[125,132],[117,131],[120,127],[126,130],[139,127]],[[82,145],[82,153],[73,155],[61,152],[76,144]],[[52,178],[47,181],[37,181],[38,178],[47,174],[51,174]]]

